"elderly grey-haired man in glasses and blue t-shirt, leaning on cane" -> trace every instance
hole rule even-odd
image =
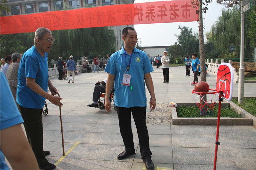
[[[18,71],[17,103],[20,105],[28,142],[40,169],[56,167],[45,158],[50,152],[43,150],[42,113],[45,99],[59,107],[63,105],[60,102],[62,98],[54,96],[58,91],[48,78],[48,52],[53,42],[49,29],[38,28],[35,45],[23,54]],[[48,87],[52,95],[47,92]]]

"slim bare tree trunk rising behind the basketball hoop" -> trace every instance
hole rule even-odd
[[[205,70],[205,53],[204,53],[204,25],[203,25],[203,4],[202,0],[198,1],[198,28],[199,28],[199,53],[200,53],[200,67],[201,67],[201,81],[206,82],[206,70]],[[206,95],[204,95],[204,101],[206,100]],[[201,100],[202,105],[204,105],[204,101]],[[207,115],[207,111],[203,110],[202,115]]]

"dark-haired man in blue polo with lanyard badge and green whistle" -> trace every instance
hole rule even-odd
[[[155,167],[151,160],[152,153],[149,149],[146,125],[147,98],[145,83],[151,96],[149,107],[150,110],[153,110],[156,107],[156,99],[150,72],[154,70],[148,60],[148,55],[135,48],[138,38],[132,27],[123,29],[122,38],[124,40],[123,48],[111,55],[105,68],[105,71],[108,72],[105,108],[110,112],[109,95],[113,84],[115,84],[115,105],[119,128],[125,145],[124,152],[120,153],[117,159],[124,159],[135,153],[131,127],[132,112],[140,142],[141,159],[143,159],[148,170],[153,170]]]

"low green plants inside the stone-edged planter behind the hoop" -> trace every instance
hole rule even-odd
[[[197,106],[178,106],[176,107],[176,111],[178,117],[218,117],[218,106],[215,106],[213,108],[212,115],[205,116],[200,115],[199,108]],[[241,117],[241,115],[236,113],[231,107],[226,106],[224,108],[221,108],[220,117]]]

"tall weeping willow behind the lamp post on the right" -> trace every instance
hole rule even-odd
[[[250,11],[245,12],[244,17],[244,55],[252,57],[252,48],[250,47],[250,38],[248,30],[251,24],[248,20]],[[254,20],[254,24],[255,24]],[[235,46],[236,53],[240,55],[240,26],[241,26],[241,13],[238,6],[231,9],[221,11],[221,15],[215,24],[212,26],[212,41],[215,48],[227,53],[229,46]],[[254,36],[255,37],[255,33]]]

